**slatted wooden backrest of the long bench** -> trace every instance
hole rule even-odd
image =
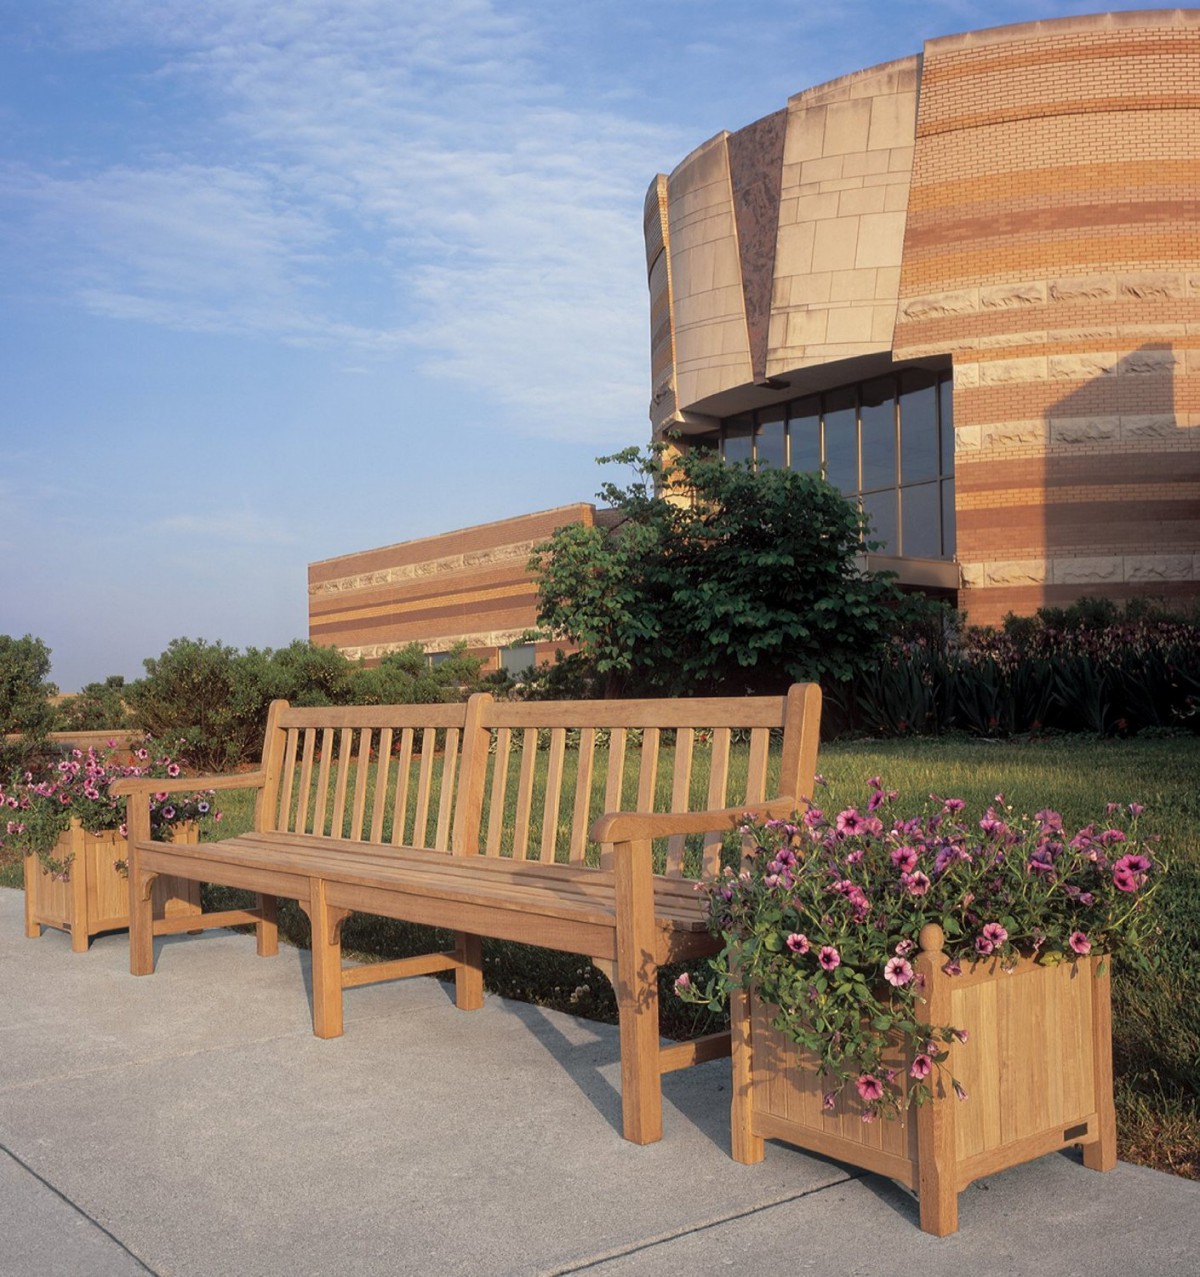
[[[276,702],[259,827],[458,854],[606,865],[610,811],[812,796],[821,692],[628,701],[295,709]],[[666,875],[719,868],[723,833],[659,848]]]

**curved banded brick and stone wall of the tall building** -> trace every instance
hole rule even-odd
[[[651,194],[656,434],[952,365],[971,619],[1196,596],[1200,11],[932,40]]]

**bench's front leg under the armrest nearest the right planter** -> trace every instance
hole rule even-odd
[[[622,1126],[631,1143],[652,1144],[663,1138],[663,1075],[650,844],[615,852]]]

